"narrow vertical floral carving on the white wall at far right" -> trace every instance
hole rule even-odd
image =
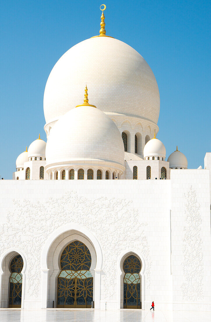
[[[189,192],[184,194],[184,197],[186,199],[185,219],[187,225],[184,227],[182,267],[186,281],[181,285],[181,289],[184,300],[195,301],[204,298],[200,204],[197,202],[196,192],[192,186],[190,186]]]

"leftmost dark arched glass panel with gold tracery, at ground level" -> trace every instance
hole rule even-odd
[[[9,308],[21,308],[23,259],[15,255],[10,263]]]

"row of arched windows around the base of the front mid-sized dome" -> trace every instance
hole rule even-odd
[[[43,168],[44,170],[44,168]],[[113,172],[112,179],[116,178],[116,173]],[[50,179],[53,179],[53,174],[50,173]],[[56,180],[58,180],[58,171],[56,171]],[[62,180],[65,180],[65,170],[62,170]],[[74,169],[69,170],[69,180],[75,179],[75,171]],[[87,180],[93,180],[94,179],[94,172],[92,169],[87,170]],[[102,179],[102,171],[100,169],[97,170],[97,180]],[[110,179],[110,172],[106,170],[106,180]],[[118,174],[118,179],[120,179],[120,175]],[[84,169],[78,170],[78,180],[84,180]]]

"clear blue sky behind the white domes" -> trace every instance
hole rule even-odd
[[[106,1],[106,0],[105,0]],[[99,33],[98,1],[0,1],[0,175],[43,129],[43,94],[57,60]],[[106,1],[106,34],[136,49],[160,91],[157,138],[188,167],[210,152],[210,7],[206,1]]]

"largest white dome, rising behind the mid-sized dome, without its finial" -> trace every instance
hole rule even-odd
[[[86,83],[89,100],[102,111],[157,123],[159,90],[147,62],[120,40],[94,37],[65,52],[52,69],[44,93],[46,124],[75,108]]]

